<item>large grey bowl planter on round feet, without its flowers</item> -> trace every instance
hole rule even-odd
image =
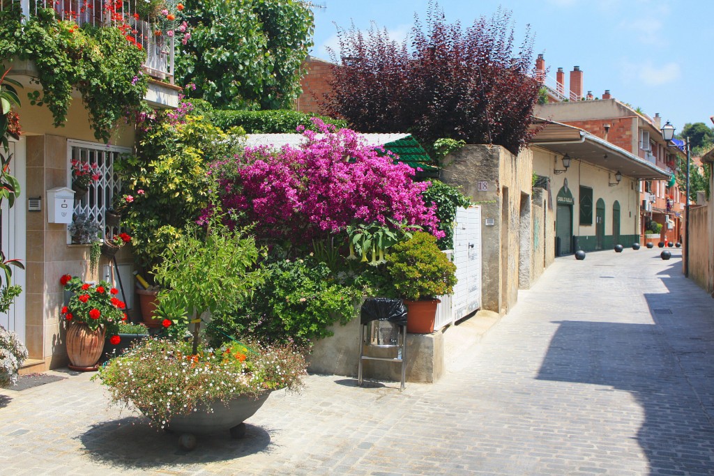
[[[225,403],[221,400],[198,402],[195,412],[172,416],[168,429],[181,433],[178,444],[183,450],[189,451],[196,447],[196,435],[228,430],[233,438],[243,437],[246,432],[243,421],[252,417],[268,400],[269,395],[270,392],[261,393],[257,397],[241,395]]]

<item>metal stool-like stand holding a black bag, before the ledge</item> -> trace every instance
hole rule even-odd
[[[393,348],[396,358],[364,355],[365,348]],[[359,367],[357,383],[362,386],[364,360],[401,363],[401,388],[406,382],[406,306],[401,299],[367,298],[360,311]]]

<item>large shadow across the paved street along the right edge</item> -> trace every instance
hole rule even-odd
[[[714,474],[714,301],[673,263],[645,293],[654,324],[562,321],[539,380],[630,392],[650,474]]]

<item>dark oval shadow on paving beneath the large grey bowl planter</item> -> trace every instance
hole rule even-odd
[[[92,460],[130,469],[234,460],[268,452],[271,444],[266,430],[248,424],[246,436],[236,440],[227,431],[200,435],[198,446],[190,452],[178,447],[179,436],[150,427],[146,418],[125,417],[93,425],[79,439]]]

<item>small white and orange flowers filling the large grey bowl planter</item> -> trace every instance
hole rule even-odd
[[[96,378],[114,402],[134,405],[152,425],[164,427],[171,415],[187,415],[198,402],[297,391],[305,373],[303,355],[291,345],[231,342],[193,353],[191,343],[149,339],[110,360]]]

